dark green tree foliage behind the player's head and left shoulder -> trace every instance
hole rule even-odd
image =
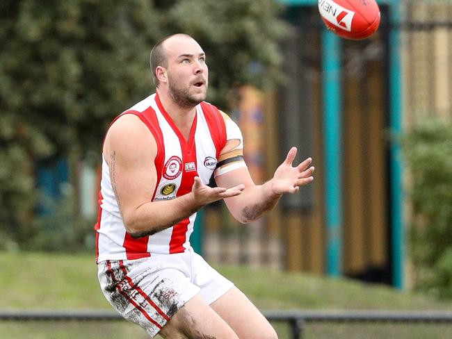
[[[193,35],[208,56],[209,100],[227,109],[230,88],[277,78],[278,13],[273,0],[1,1],[2,238],[34,232],[36,163],[99,154],[113,117],[150,94],[156,41]]]

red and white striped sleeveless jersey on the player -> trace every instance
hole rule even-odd
[[[166,113],[158,94],[150,95],[122,113],[124,114],[137,115],[156,140],[157,154],[154,163],[157,183],[152,201],[175,199],[191,192],[195,176],[199,176],[203,183],[209,183],[226,141],[230,138],[241,139],[236,124],[218,108],[206,102],[196,106],[196,115],[188,141]],[[228,130],[231,132],[227,133]],[[243,161],[238,163],[245,166]],[[102,157],[99,215],[95,225],[97,262],[138,259],[152,254],[180,253],[191,249],[190,235],[193,232],[195,217],[196,213],[153,235],[132,238],[122,222],[118,201],[111,185],[108,164]]]

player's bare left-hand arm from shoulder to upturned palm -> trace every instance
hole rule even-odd
[[[108,130],[104,158],[122,221],[134,238],[156,233],[189,217],[213,201],[240,195],[243,185],[209,188],[195,178],[187,195],[151,201],[157,184],[154,165],[157,147],[152,133],[135,115],[120,117]]]

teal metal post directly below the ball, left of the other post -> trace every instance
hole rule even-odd
[[[341,39],[322,32],[323,133],[325,149],[326,268],[330,276],[342,270],[342,98]]]

